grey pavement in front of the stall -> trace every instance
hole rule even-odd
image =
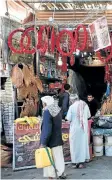
[[[111,179],[112,157],[94,158],[86,164],[84,169],[73,169],[71,164],[66,165],[67,179]],[[1,179],[43,179],[42,169],[27,169],[12,171],[12,168],[1,169]]]

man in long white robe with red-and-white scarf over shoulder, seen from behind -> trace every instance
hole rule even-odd
[[[88,118],[91,117],[88,105],[79,100],[77,94],[70,96],[66,119],[70,121],[70,153],[75,168],[83,168],[90,159],[88,142]]]

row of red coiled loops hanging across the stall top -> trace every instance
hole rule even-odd
[[[78,32],[81,28],[83,28],[83,30],[84,30],[84,43],[83,43],[82,47],[77,47],[78,35],[79,35]],[[47,31],[46,31],[46,29],[47,29]],[[37,31],[38,44],[36,45],[36,48],[39,50],[40,53],[43,53],[43,54],[45,54],[46,51],[49,49],[49,44],[50,44],[49,43],[49,33],[48,33],[49,29],[50,29],[49,26],[40,26],[39,30]],[[10,35],[8,37],[8,46],[12,50],[12,52],[19,53],[19,54],[22,54],[22,53],[34,54],[36,52],[36,50],[35,50],[36,48],[34,48],[34,47],[32,47],[32,49],[29,49],[30,43],[31,43],[30,32],[32,32],[32,31],[34,32],[34,27],[29,27],[25,30],[16,29],[10,33]],[[45,33],[45,31],[46,31],[46,33]],[[12,43],[13,36],[17,32],[22,32],[19,49],[16,49]],[[73,32],[75,32],[75,38],[73,38]],[[56,33],[55,33],[54,27],[53,27],[51,30],[51,37],[50,37],[51,38],[51,47],[50,47],[51,51],[54,52],[54,49],[56,46],[57,50],[59,51],[59,53],[62,56],[71,56],[76,48],[78,48],[80,50],[84,50],[86,47],[86,44],[87,44],[86,27],[84,25],[78,25],[76,30],[73,30],[73,32],[66,30],[66,29],[58,32],[58,30],[56,29]],[[61,38],[65,34],[67,34],[67,36],[69,36],[69,38],[71,40],[71,43],[69,44],[69,47],[68,47],[69,51],[67,50],[67,52],[65,52],[63,50],[63,48],[61,48],[61,46],[60,46]],[[27,44],[24,46],[24,38],[25,37],[27,37],[28,41],[27,41]],[[44,37],[44,41],[43,41],[42,37]],[[54,39],[56,41],[54,41]],[[43,44],[44,44],[44,46],[43,46]]]

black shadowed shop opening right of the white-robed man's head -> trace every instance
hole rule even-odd
[[[87,87],[87,93],[101,102],[102,96],[106,91],[105,67],[86,67],[80,66],[79,73],[84,78]]]

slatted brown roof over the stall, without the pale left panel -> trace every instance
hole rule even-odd
[[[112,24],[112,1],[73,1],[73,0],[23,0],[26,5],[36,12],[40,22],[48,22],[52,17],[54,21],[64,27],[74,26],[77,23],[88,25],[101,16],[106,16],[108,25]]]

